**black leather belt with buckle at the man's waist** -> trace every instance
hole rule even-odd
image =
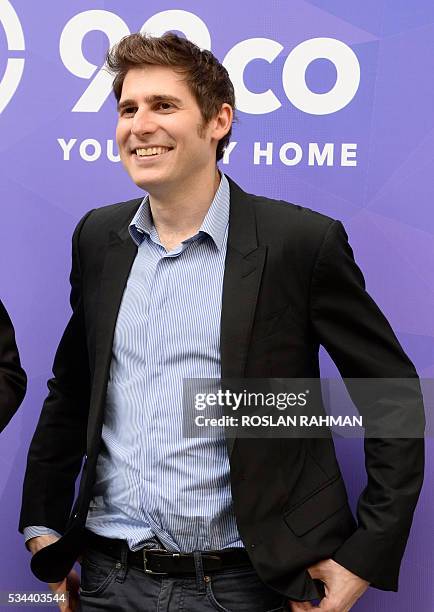
[[[122,551],[128,548],[125,540],[114,540],[86,531],[86,545],[99,550],[119,561]],[[202,566],[205,573],[225,569],[251,567],[252,564],[244,548],[227,548],[211,550],[201,553]],[[172,553],[167,550],[142,548],[135,552],[128,549],[128,565],[142,570],[147,574],[168,575],[183,574],[195,575],[193,553]]]

